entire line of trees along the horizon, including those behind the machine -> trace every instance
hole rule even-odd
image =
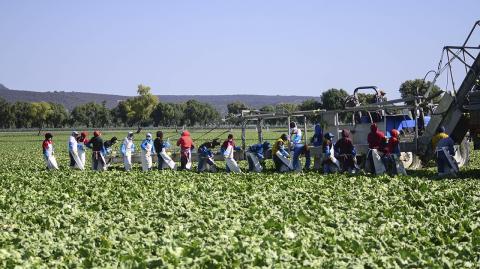
[[[405,81],[400,87],[403,98],[421,95],[426,92],[430,82],[422,80]],[[418,90],[418,93],[417,93]],[[434,87],[433,93],[440,89]],[[122,127],[122,126],[195,126],[208,125],[221,121],[220,113],[210,104],[189,100],[185,103],[162,103],[151,93],[148,86],[138,85],[138,95],[118,103],[113,109],[106,107],[105,102],[90,102],[67,111],[62,105],[47,102],[16,102],[10,104],[0,98],[0,128],[39,128],[73,127]],[[348,93],[343,89],[329,89],[323,92],[320,100],[309,99],[301,104],[282,103],[267,105],[262,112],[294,112],[303,110],[325,109],[338,110],[344,108]],[[361,104],[375,102],[370,93],[360,93]],[[251,109],[241,102],[228,104],[227,119],[230,124],[239,123],[238,115],[242,110]],[[307,118],[311,122],[315,117]],[[283,123],[273,120],[270,124]]]

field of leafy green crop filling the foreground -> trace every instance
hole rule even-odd
[[[480,265],[475,153],[444,180],[432,168],[394,178],[95,173],[67,168],[67,136],[54,137],[61,169],[49,172],[41,136],[0,133],[1,268]]]

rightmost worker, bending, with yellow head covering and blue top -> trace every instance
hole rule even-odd
[[[458,164],[453,158],[455,156],[454,141],[445,132],[443,126],[437,129],[437,134],[432,139],[435,142],[435,153],[437,156],[438,176],[457,176]]]

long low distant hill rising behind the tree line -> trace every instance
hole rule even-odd
[[[106,102],[107,107],[113,108],[119,101],[129,98],[129,96],[114,95],[114,94],[98,94],[98,93],[84,93],[84,92],[34,92],[11,90],[0,84],[0,97],[8,102],[53,102],[64,105],[71,110],[75,106],[85,104],[88,102],[101,103]],[[247,104],[249,107],[260,108],[265,105],[275,105],[279,103],[296,103],[307,99],[320,100],[320,97],[314,96],[280,96],[280,95],[158,95],[161,102],[181,103],[190,99],[195,99],[199,102],[205,102],[213,105],[219,112],[225,113],[227,111],[227,104],[239,101]]]

